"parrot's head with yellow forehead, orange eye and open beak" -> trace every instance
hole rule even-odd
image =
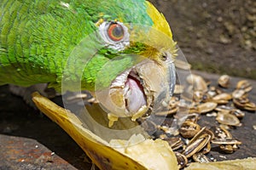
[[[99,1],[96,9],[87,8],[102,43],[96,55],[104,59],[93,68],[92,81],[102,107],[132,120],[165,110],[176,81],[176,42],[163,14],[144,0]],[[87,72],[91,79],[93,71]]]

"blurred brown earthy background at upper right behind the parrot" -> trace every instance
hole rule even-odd
[[[256,79],[256,1],[150,0],[192,69]]]

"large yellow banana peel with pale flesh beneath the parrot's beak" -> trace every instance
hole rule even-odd
[[[71,111],[56,105],[37,92],[32,94],[32,100],[38,109],[62,127],[102,170],[178,169],[177,158],[166,141],[145,139],[131,146],[112,147],[124,146],[127,141],[113,140],[108,143],[84,128],[79,118]],[[143,135],[138,134],[131,138],[136,140],[143,138]]]

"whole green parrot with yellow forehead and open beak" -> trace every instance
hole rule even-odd
[[[161,111],[176,42],[145,0],[1,0],[0,85],[89,90],[110,116]]]

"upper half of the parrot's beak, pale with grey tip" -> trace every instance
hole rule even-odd
[[[152,96],[152,113],[167,111],[168,103],[176,84],[176,70],[172,55],[166,53],[166,60],[156,63],[146,62],[137,67],[137,72],[143,78],[148,96]]]

